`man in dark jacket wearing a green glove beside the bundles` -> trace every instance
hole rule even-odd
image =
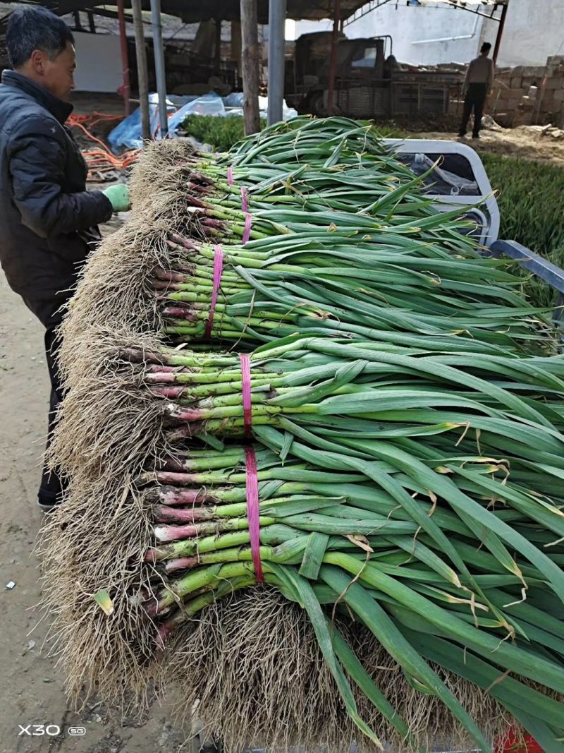
[[[45,327],[51,381],[48,437],[62,399],[56,327],[77,273],[99,242],[97,224],[128,209],[125,186],[86,191],[86,163],[65,127],[76,67],[73,37],[44,8],[14,11],[6,47],[14,70],[0,84],[0,261],[12,290]],[[39,505],[61,497],[44,469]]]

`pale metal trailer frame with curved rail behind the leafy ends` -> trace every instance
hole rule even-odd
[[[558,291],[553,320],[562,321],[564,304],[564,270],[532,252],[514,240],[502,240],[499,235],[499,206],[488,180],[484,165],[478,153],[467,144],[456,141],[433,141],[432,139],[384,139],[396,149],[402,162],[414,172],[427,172],[432,164],[438,166],[426,179],[426,195],[432,197],[438,209],[449,211],[453,205],[466,207],[466,215],[478,227],[475,237],[484,246],[484,252],[495,256],[505,256],[519,261],[526,270]],[[480,205],[476,208],[476,205]],[[196,711],[196,709],[195,709]],[[208,738],[195,714],[192,725],[192,753],[222,753],[220,741]],[[244,753],[264,753],[259,750],[245,750]],[[307,753],[296,748],[295,753]],[[323,751],[315,751],[323,753]],[[348,753],[356,753],[351,748]],[[442,745],[436,753],[480,753],[480,751],[447,751]]]

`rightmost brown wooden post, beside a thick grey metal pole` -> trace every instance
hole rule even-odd
[[[256,16],[256,0],[241,0],[241,41],[245,135],[249,136],[260,130],[259,24]]]

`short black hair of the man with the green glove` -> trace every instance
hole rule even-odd
[[[34,50],[42,50],[50,60],[74,44],[71,29],[47,8],[17,8],[6,30],[6,47],[13,68],[20,68]]]

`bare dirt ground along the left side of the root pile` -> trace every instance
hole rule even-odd
[[[144,724],[112,721],[108,709],[96,703],[81,714],[68,709],[64,669],[56,669],[48,656],[47,624],[37,625],[34,611],[41,593],[32,549],[43,517],[36,499],[47,385],[41,324],[0,273],[0,753],[190,751],[183,745],[186,735],[171,727],[170,709],[153,708]],[[38,733],[29,735],[20,728],[34,724],[44,724],[47,734],[29,727]],[[85,733],[72,735],[69,727]]]

